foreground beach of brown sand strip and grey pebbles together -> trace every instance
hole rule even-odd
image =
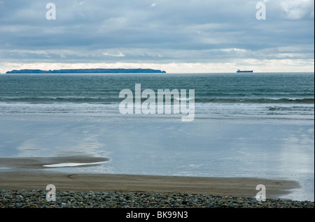
[[[1,207],[172,207],[172,208],[314,208],[314,202],[283,200],[300,186],[288,180],[149,175],[65,174],[43,171],[0,173]],[[53,184],[49,202],[46,186]],[[258,201],[257,184],[265,184],[266,200]]]

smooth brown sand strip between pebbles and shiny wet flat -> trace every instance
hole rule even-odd
[[[183,193],[230,195],[254,198],[258,184],[265,185],[266,198],[280,199],[300,188],[298,182],[286,179],[248,177],[182,177],[158,175],[117,175],[99,173],[66,173],[45,170],[6,170],[0,172],[2,190],[42,190],[48,184],[56,191]]]

